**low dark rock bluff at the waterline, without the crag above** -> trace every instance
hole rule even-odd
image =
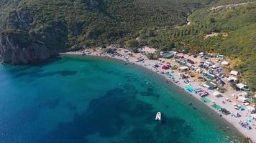
[[[0,61],[6,64],[35,64],[55,54],[45,44],[19,31],[0,34]]]

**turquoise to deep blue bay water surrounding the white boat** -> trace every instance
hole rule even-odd
[[[239,142],[226,126],[163,77],[121,61],[0,66],[1,143]]]

